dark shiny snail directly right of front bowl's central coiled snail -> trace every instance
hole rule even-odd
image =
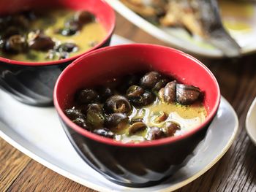
[[[149,91],[144,91],[141,96],[130,98],[129,101],[135,105],[135,107],[142,107],[154,102],[155,96]]]

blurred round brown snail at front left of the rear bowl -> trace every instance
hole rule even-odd
[[[8,53],[23,53],[27,50],[26,39],[21,35],[12,35],[7,39],[4,50]]]

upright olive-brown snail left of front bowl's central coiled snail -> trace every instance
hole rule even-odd
[[[99,104],[89,104],[86,120],[94,128],[103,127],[105,117],[102,112],[102,107],[100,107]]]

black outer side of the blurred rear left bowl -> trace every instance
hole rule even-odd
[[[111,37],[101,46],[110,45]],[[99,47],[100,48],[100,47]],[[72,61],[45,66],[0,63],[0,88],[18,101],[37,107],[53,106],[53,88]]]

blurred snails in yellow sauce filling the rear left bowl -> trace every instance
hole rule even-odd
[[[106,36],[86,10],[25,11],[0,18],[0,55],[16,61],[56,61],[79,55]]]

